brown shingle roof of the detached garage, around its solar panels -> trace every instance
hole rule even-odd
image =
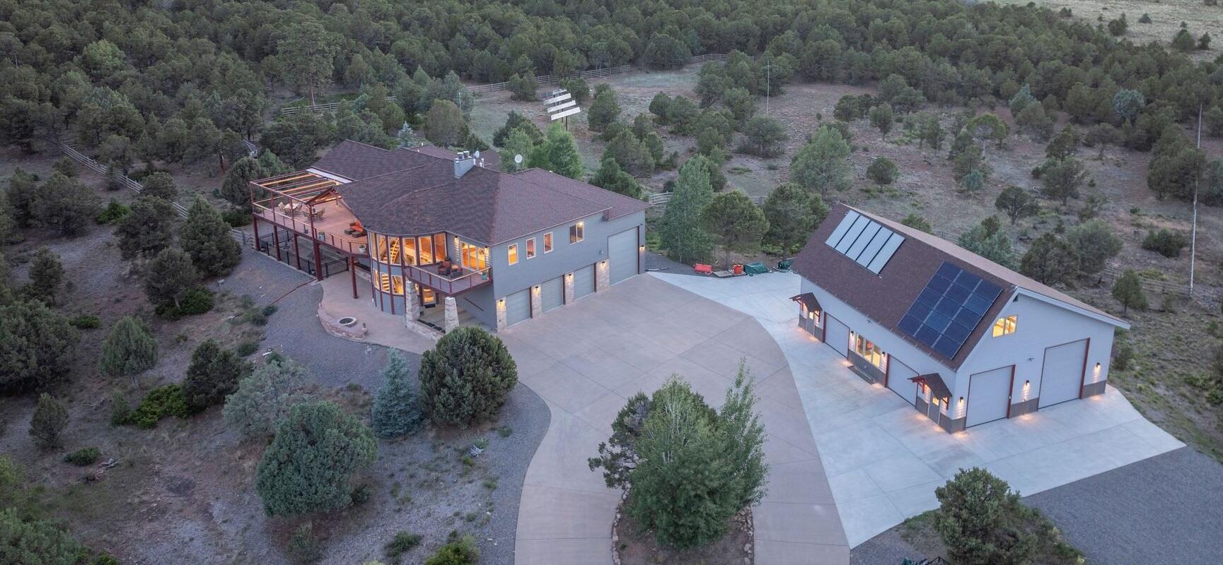
[[[850,211],[867,216],[905,237],[905,242],[896,249],[895,254],[892,255],[892,259],[878,275],[874,275],[824,243]],[[1003,289],[1002,294],[993,301],[981,321],[974,327],[972,333],[964,342],[964,345],[951,359],[914,339],[898,326],[900,318],[909,311],[909,306],[917,298],[917,294],[926,288],[926,283],[929,282],[931,277],[944,261],[950,261]],[[1117,320],[1073,297],[1003,267],[951,242],[844,204],[833,206],[828,217],[816,228],[816,233],[811,236],[806,247],[802,248],[802,253],[795,257],[793,268],[806,279],[818,284],[832,295],[849,304],[892,333],[904,338],[914,347],[936,359],[943,360],[953,370],[959,369],[964,360],[967,359],[991,323],[998,317],[998,312],[1014,297],[1018,288]],[[1120,320],[1117,321],[1120,322]]]

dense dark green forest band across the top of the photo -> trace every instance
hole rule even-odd
[[[422,74],[492,82],[735,50],[757,67],[767,59],[774,88],[779,76],[888,79],[910,99],[961,104],[1005,103],[1027,85],[1082,123],[1184,121],[1223,98],[1217,60],[1195,63],[1048,9],[992,2],[0,0],[0,139],[29,148],[71,131],[122,168],[225,162],[259,133],[275,88],[419,94]],[[757,68],[728,73],[750,84]],[[1118,113],[1121,90],[1145,107]],[[421,98],[399,104],[407,120],[427,110]],[[327,133],[386,144],[402,126],[360,101],[352,115]]]

